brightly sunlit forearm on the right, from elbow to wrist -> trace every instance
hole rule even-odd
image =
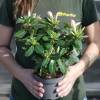
[[[96,43],[91,43],[82,58],[79,61],[79,66],[76,67],[76,72],[79,75],[83,74],[87,68],[97,59],[99,55],[99,47]]]

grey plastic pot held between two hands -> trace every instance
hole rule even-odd
[[[37,81],[42,82],[44,85],[45,93],[43,95],[43,98],[41,98],[42,100],[48,100],[48,99],[55,100],[59,98],[56,92],[56,88],[58,82],[63,79],[63,76],[59,78],[53,78],[53,79],[42,79],[39,76],[34,75],[34,78]]]

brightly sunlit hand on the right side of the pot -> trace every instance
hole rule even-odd
[[[58,83],[58,96],[64,97],[70,93],[76,79],[82,74],[80,67],[81,65],[79,63],[69,67],[69,71],[64,79]]]

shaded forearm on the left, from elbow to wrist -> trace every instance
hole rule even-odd
[[[15,61],[11,51],[6,47],[0,47],[0,63],[5,67],[14,77],[18,77],[21,70],[20,65]]]

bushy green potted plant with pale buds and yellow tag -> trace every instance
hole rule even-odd
[[[74,20],[62,22],[59,17],[74,18],[74,14],[48,12],[41,18],[33,14],[18,18],[21,24],[16,40],[23,44],[26,57],[31,56],[36,65],[34,78],[43,82],[43,99],[57,99],[57,83],[62,80],[70,65],[79,61],[84,38],[84,28]]]

